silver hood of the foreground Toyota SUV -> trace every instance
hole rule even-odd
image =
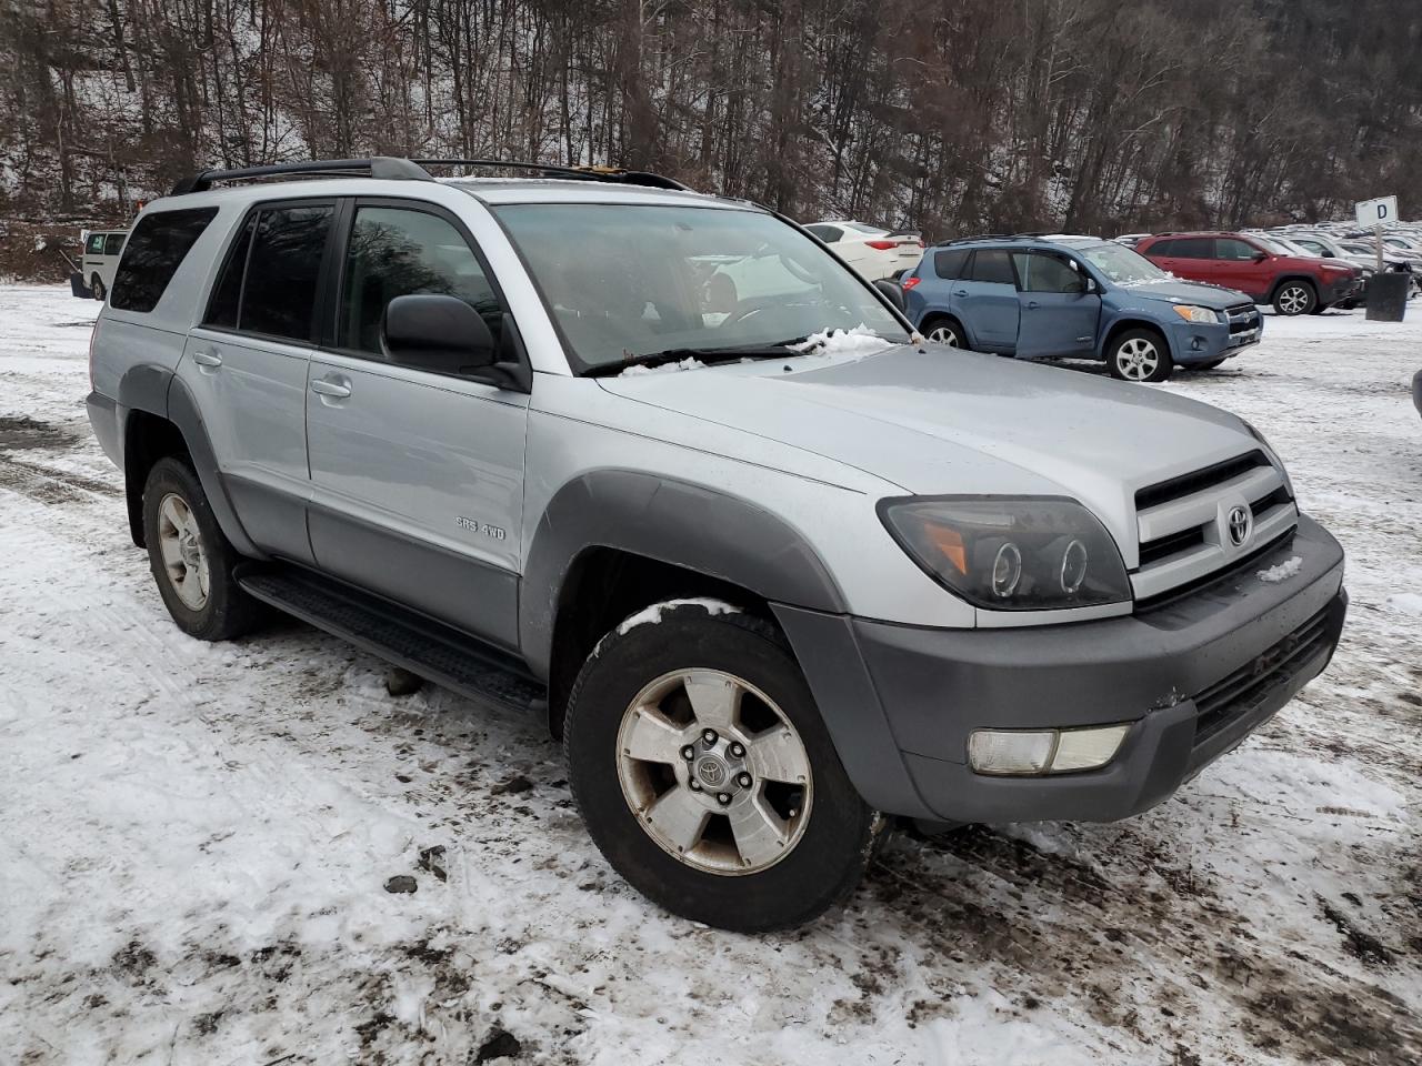
[[[813,452],[906,493],[1072,496],[1132,547],[1136,489],[1258,446],[1239,418],[1206,404],[937,344],[600,384]],[[764,456],[775,465],[774,448]]]

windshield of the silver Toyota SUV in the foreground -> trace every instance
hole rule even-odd
[[[630,203],[516,203],[493,213],[582,371],[856,325],[909,340],[865,281],[772,215]]]

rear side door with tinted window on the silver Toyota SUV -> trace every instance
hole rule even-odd
[[[279,200],[247,212],[179,368],[247,536],[304,563],[311,561],[306,364],[334,217],[333,199]]]

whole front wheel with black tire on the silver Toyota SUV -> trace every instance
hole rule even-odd
[[[849,897],[887,823],[850,785],[779,631],[721,607],[660,604],[660,623],[597,644],[569,695],[569,782],[599,850],[651,901],[735,932],[791,928]]]

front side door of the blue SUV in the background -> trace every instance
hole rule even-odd
[[[1091,355],[1096,348],[1101,297],[1086,291],[1079,263],[1055,252],[1012,253],[1021,321],[1017,357]]]

